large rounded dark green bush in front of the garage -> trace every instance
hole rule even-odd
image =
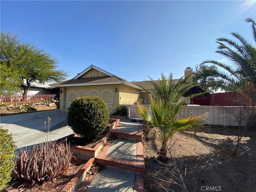
[[[68,108],[68,126],[89,141],[102,134],[108,125],[109,109],[98,97],[78,97]]]

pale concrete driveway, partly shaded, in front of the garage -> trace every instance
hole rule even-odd
[[[44,121],[47,122],[47,117],[51,118],[49,140],[57,140],[73,134],[72,129],[68,127],[67,113],[61,113],[60,110],[2,116],[0,125],[13,134],[19,149],[46,140],[47,132],[44,128]]]

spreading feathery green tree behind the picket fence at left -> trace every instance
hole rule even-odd
[[[44,50],[21,43],[16,35],[1,32],[1,90],[14,92],[22,86],[26,95],[32,82],[65,80],[67,73],[59,70],[57,63]]]

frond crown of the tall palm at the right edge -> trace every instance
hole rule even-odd
[[[256,23],[252,18],[246,18],[247,23],[252,24],[252,35],[256,44]],[[256,47],[236,32],[230,33],[238,42],[229,38],[217,38],[217,53],[228,58],[233,65],[224,64],[216,60],[205,60],[201,64],[212,63],[220,66],[224,71],[208,70],[206,73],[218,76],[229,86],[238,92],[243,92],[256,104]]]

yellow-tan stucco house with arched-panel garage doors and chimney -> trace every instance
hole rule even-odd
[[[185,76],[188,74],[192,74],[192,68],[185,70]],[[138,86],[143,86],[145,83],[145,81],[131,83],[91,65],[71,80],[50,84],[50,86],[60,88],[62,112],[67,112],[72,100],[78,96],[98,96],[106,102],[111,114],[114,106],[132,105],[139,98],[147,100],[147,93]]]

